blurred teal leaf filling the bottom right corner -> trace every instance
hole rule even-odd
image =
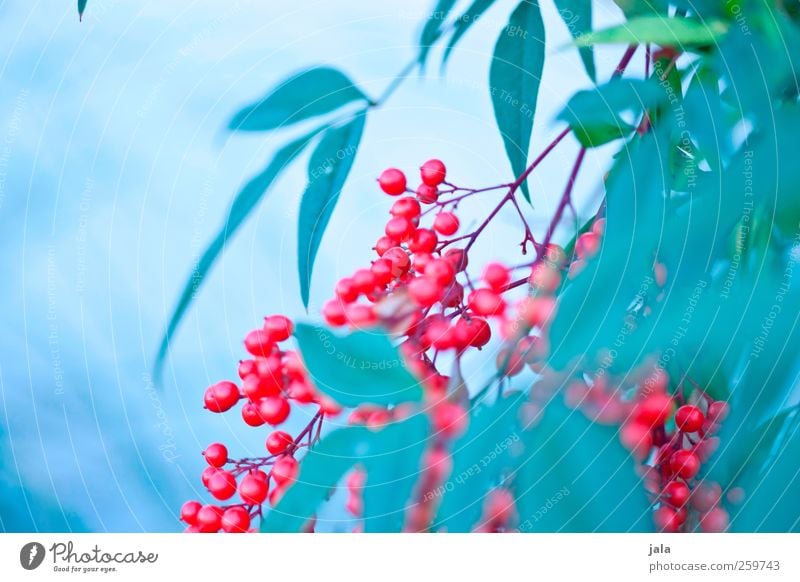
[[[742,481],[746,498],[741,507],[731,508],[732,531],[800,532],[800,424],[794,420],[771,462]]]

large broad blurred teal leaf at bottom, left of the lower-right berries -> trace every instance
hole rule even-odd
[[[554,400],[523,441],[514,476],[520,531],[652,531],[650,504],[616,429]]]

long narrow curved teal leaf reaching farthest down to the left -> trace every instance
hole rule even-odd
[[[208,275],[220,254],[222,254],[222,252],[225,250],[225,245],[227,244],[228,239],[236,234],[236,231],[244,223],[247,217],[250,216],[250,213],[264,197],[264,194],[267,193],[273,182],[275,182],[283,170],[286,169],[286,166],[291,164],[300,154],[300,152],[302,152],[303,149],[305,149],[305,147],[317,136],[321,129],[322,128],[317,128],[278,150],[264,171],[253,177],[247,184],[245,184],[244,188],[242,188],[236,195],[236,198],[234,198],[230,210],[228,211],[228,216],[225,219],[225,223],[214,237],[214,240],[211,241],[211,244],[206,247],[206,250],[200,257],[200,260],[197,262],[197,266],[195,267],[192,275],[189,277],[189,280],[186,281],[186,285],[184,286],[180,298],[178,299],[178,304],[175,306],[175,310],[172,312],[172,317],[170,317],[167,330],[161,340],[158,354],[156,356],[156,371],[154,374],[156,377],[160,376],[161,366],[164,363],[164,358],[167,354],[167,349],[169,348],[169,342],[172,340],[172,336],[178,329],[178,325],[183,319],[183,316],[186,313],[189,305],[194,300],[194,297],[197,294],[200,285],[202,285],[203,281],[205,280],[206,275]]]

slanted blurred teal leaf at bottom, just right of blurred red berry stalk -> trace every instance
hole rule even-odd
[[[486,494],[514,466],[521,439],[519,407],[525,396],[503,398],[472,410],[467,432],[453,444],[453,470],[442,485],[444,496],[434,530],[468,532],[480,520]]]

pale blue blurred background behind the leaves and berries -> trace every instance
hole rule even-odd
[[[413,57],[432,4],[89,0],[79,23],[72,0],[0,2],[0,531],[176,531],[180,504],[205,498],[206,444],[260,453],[265,431],[204,413],[202,392],[235,375],[241,338],[265,314],[303,316],[295,221],[304,160],[203,286],[163,388],[150,377],[178,292],[231,197],[296,133],[223,128],[310,64],[340,67],[378,94]],[[317,259],[312,317],[335,280],[371,258],[390,204],[374,184],[382,168],[411,172],[436,156],[460,184],[511,178],[486,80],[515,4],[495,4],[444,76],[435,51],[427,78],[409,79],[370,116]],[[574,51],[562,50],[566,27],[543,4],[549,55],[533,151],[560,129],[566,97],[588,84]],[[610,0],[595,5],[595,25],[619,19]],[[618,54],[598,55],[601,78]],[[535,224],[555,206],[575,151],[560,147],[534,176]],[[584,166],[585,207],[608,155]],[[481,208],[463,212],[468,223]],[[518,241],[513,214],[501,216],[475,261],[508,257],[501,249]]]

